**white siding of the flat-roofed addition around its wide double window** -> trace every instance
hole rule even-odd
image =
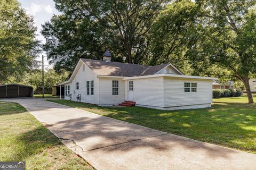
[[[185,82],[196,82],[197,92],[185,92]],[[212,80],[164,78],[164,107],[212,103]]]

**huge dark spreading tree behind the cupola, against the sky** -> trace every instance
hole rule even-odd
[[[114,60],[143,63],[148,32],[163,0],[55,0],[62,12],[43,25],[44,49],[58,67],[70,69],[79,57],[101,56],[105,47]],[[67,65],[68,63],[68,65]]]

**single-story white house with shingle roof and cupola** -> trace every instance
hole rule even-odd
[[[124,100],[157,109],[211,107],[212,81],[216,78],[183,75],[172,64],[146,66],[81,58],[65,86],[65,99],[113,106]]]

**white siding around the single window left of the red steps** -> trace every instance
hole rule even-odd
[[[112,95],[112,81],[118,80],[119,95]],[[124,80],[117,78],[99,78],[99,105],[118,105],[124,101]]]

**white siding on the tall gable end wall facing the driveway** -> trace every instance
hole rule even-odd
[[[74,79],[71,81],[70,94],[72,94],[72,100],[77,101],[77,95],[81,94],[81,101],[84,103],[99,104],[99,78],[92,72],[89,67],[83,63],[78,65],[78,70]],[[94,95],[91,95],[91,81],[94,83]],[[90,81],[90,95],[87,95],[86,81]],[[79,89],[76,89],[76,83],[79,83]],[[65,84],[66,86],[66,84]],[[66,99],[66,97],[65,97]],[[69,97],[67,97],[69,99]]]

